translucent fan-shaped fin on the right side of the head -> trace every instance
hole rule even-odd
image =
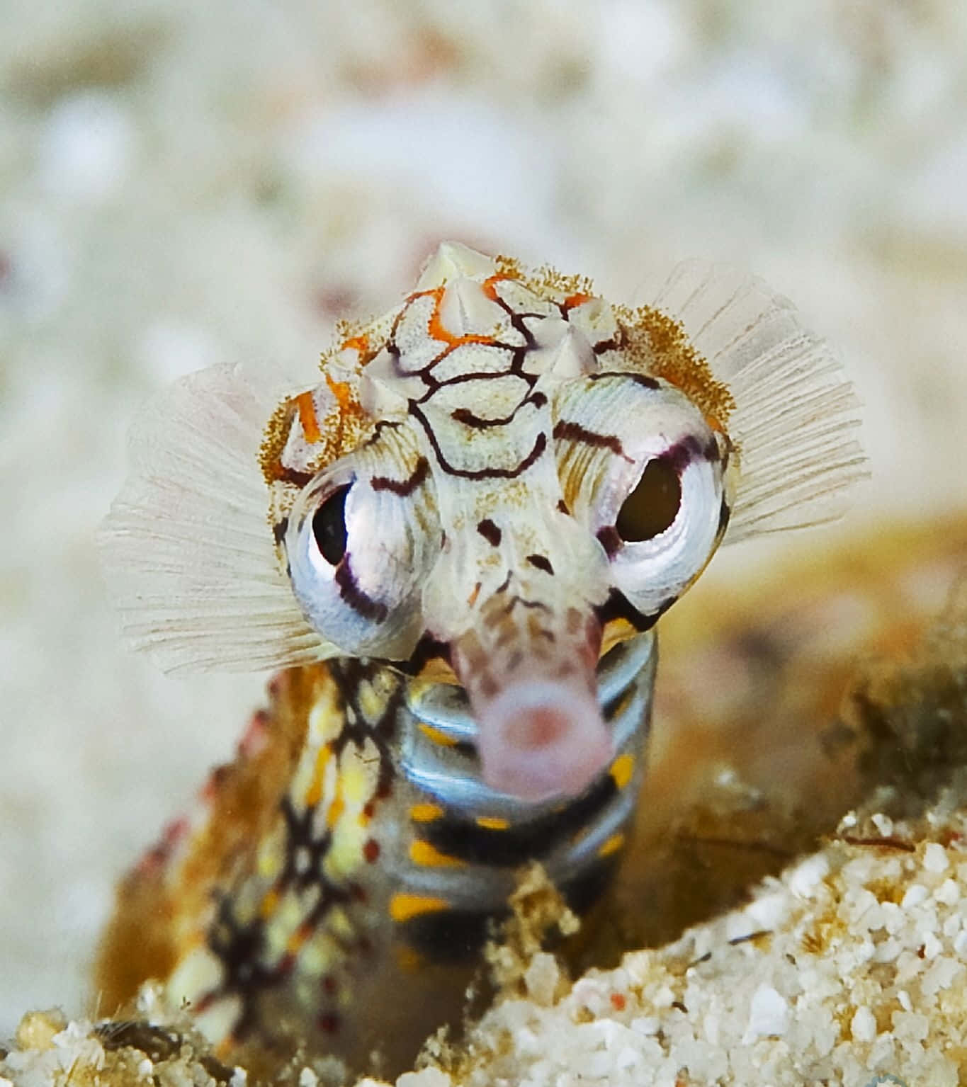
[[[686,261],[652,303],[680,321],[732,395],[739,447],[728,542],[842,514],[866,458],[858,400],[829,345],[788,299],[735,270]]]

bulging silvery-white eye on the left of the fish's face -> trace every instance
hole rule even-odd
[[[422,633],[422,586],[439,550],[430,482],[410,489],[399,452],[377,447],[319,473],[288,515],[293,594],[345,653],[400,660]]]

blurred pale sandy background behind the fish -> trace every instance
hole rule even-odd
[[[114,880],[263,684],[165,678],[107,607],[94,534],[128,420],[174,377],[306,366],[445,237],[617,300],[721,259],[855,377],[873,483],[853,530],[967,509],[964,4],[0,11],[0,1036],[82,1009]]]

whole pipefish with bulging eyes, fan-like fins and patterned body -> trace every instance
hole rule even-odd
[[[223,367],[135,428],[106,529],[128,634],[285,671],[122,886],[99,984],[159,978],[226,1052],[361,1064],[438,1021],[522,866],[599,897],[656,621],[727,529],[832,515],[863,458],[825,345],[709,270],[632,310],[446,245],[344,332],[321,380]]]

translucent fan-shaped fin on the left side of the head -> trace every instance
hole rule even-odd
[[[131,475],[100,532],[104,577],[134,648],[166,671],[257,671],[330,657],[281,569],[259,471],[265,421],[293,383],[238,365],[150,401]]]

